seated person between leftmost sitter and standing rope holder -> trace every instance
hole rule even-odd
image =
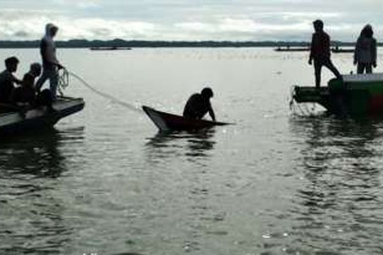
[[[33,63],[24,75],[21,86],[14,89],[12,102],[14,104],[28,104],[33,106],[36,99],[35,79],[41,74],[41,65]]]

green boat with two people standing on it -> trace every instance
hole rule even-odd
[[[383,73],[347,74],[327,87],[295,86],[296,103],[318,103],[330,114],[383,117]]]

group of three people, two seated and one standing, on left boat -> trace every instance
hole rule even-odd
[[[53,38],[58,27],[46,24],[45,36],[40,41],[42,65],[32,63],[22,80],[15,77],[19,60],[9,57],[5,60],[6,69],[0,73],[0,112],[25,112],[30,108],[45,106],[54,111],[53,102],[57,99],[58,70],[64,68],[56,58],[56,47]],[[38,78],[37,82],[35,80]],[[46,80],[50,88],[41,90]]]

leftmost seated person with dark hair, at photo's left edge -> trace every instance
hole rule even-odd
[[[21,84],[21,81],[14,77],[13,73],[17,70],[19,61],[16,57],[10,57],[5,60],[6,69],[0,73],[0,103],[10,104],[15,83]]]

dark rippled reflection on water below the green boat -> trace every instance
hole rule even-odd
[[[383,238],[377,232],[383,223],[377,167],[382,156],[381,125],[331,118],[291,121],[293,132],[304,144],[299,169],[306,183],[297,190],[295,207],[290,210],[296,220],[296,240],[301,240],[293,250],[315,247],[340,254],[337,251],[365,247],[369,254],[382,252],[377,245]],[[357,239],[350,240],[355,233]]]

